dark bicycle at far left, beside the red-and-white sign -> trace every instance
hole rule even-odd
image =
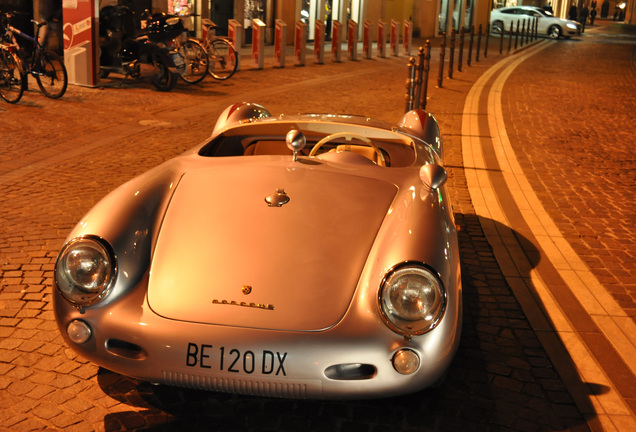
[[[62,97],[68,86],[68,75],[64,62],[52,51],[45,50],[39,41],[39,33],[46,23],[31,20],[35,37],[11,25],[16,13],[2,13],[1,21],[5,33],[0,42],[0,96],[9,103],[17,103],[27,87],[29,75],[33,75],[45,96],[51,99]],[[20,46],[16,35],[31,42],[33,50],[28,56]]]

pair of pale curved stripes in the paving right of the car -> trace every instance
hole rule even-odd
[[[484,234],[493,247],[497,262],[559,374],[564,377],[577,406],[589,420],[590,428],[636,430],[636,418],[576,329],[573,329],[541,276],[531,268],[516,239],[514,242],[510,241],[510,233],[500,230],[493,222],[510,227],[486,170],[479,139],[479,98],[486,84],[501,70],[488,95],[488,126],[506,185],[543,250],[542,259],[547,258],[557,269],[585,311],[592,316],[630,370],[635,372],[636,326],[589,271],[543,208],[519,165],[506,133],[501,106],[504,83],[519,64],[552,43],[554,42],[539,43],[521,55],[498,62],[471,88],[462,117],[462,153],[466,180],[475,212],[480,217]],[[576,365],[578,377],[571,376],[570,362],[562,358],[566,355],[561,353],[562,348],[559,346],[564,346],[569,353],[569,360]],[[601,385],[605,391],[595,394],[594,389],[589,388],[586,383]]]

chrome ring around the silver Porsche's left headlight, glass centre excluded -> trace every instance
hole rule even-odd
[[[105,259],[107,266],[110,269],[99,287],[92,293],[84,291],[84,296],[81,295],[82,289],[79,287],[79,284],[74,284],[71,281],[72,278],[68,276],[67,267],[61,267],[64,263],[67,263],[66,259],[69,256],[69,253],[77,250],[78,247],[83,244],[89,245],[97,250]],[[55,289],[65,301],[76,307],[83,308],[93,306],[103,300],[111,292],[115,284],[117,273],[117,256],[106,240],[95,235],[75,237],[62,246],[62,249],[57,256],[54,271]]]

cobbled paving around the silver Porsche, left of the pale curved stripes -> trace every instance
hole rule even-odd
[[[152,386],[76,356],[57,333],[50,301],[55,257],[71,227],[117,185],[205,139],[227,105],[248,100],[274,114],[397,121],[405,57],[244,67],[228,82],[180,83],[172,93],[113,80],[103,89],[72,86],[59,101],[32,90],[17,106],[0,105],[0,430],[587,430],[507,286],[466,190],[463,101],[498,58],[497,42],[488,59],[464,65],[444,88],[429,85],[461,228],[463,337],[443,386],[392,399],[290,401]],[[521,103],[529,114],[536,108]]]

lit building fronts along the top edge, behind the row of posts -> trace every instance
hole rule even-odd
[[[41,0],[33,0],[32,11],[38,19]],[[73,0],[68,1],[72,3]],[[78,0],[74,0],[78,1]],[[86,1],[86,0],[80,0]],[[89,0],[90,1],[90,0]],[[578,9],[586,4],[590,10],[597,9],[597,18],[612,19],[619,14],[628,24],[635,23],[636,0],[92,0],[97,8],[107,4],[127,4],[137,12],[145,9],[152,12],[167,12],[187,16],[185,21],[193,32],[200,32],[201,20],[210,19],[219,26],[218,34],[226,35],[229,20],[235,20],[245,30],[244,43],[251,41],[250,32],[252,21],[255,19],[265,23],[267,28],[266,40],[273,41],[276,20],[282,20],[292,29],[299,20],[307,24],[308,39],[313,40],[315,22],[320,20],[325,24],[327,38],[331,34],[332,23],[338,21],[346,28],[347,22],[353,20],[359,24],[369,20],[372,28],[377,29],[379,20],[390,23],[397,20],[400,23],[410,21],[413,35],[423,38],[433,38],[450,33],[451,29],[461,26],[476,28],[481,24],[485,29],[488,25],[490,11],[502,6],[517,4],[545,6],[550,3],[554,14],[567,17],[572,3]],[[0,0],[0,10],[24,9],[22,0]],[[30,5],[30,4],[29,4]],[[622,14],[622,15],[621,15]],[[377,32],[372,31],[374,37]],[[361,36],[361,35],[359,35]],[[288,31],[289,41],[292,41],[293,31]]]

